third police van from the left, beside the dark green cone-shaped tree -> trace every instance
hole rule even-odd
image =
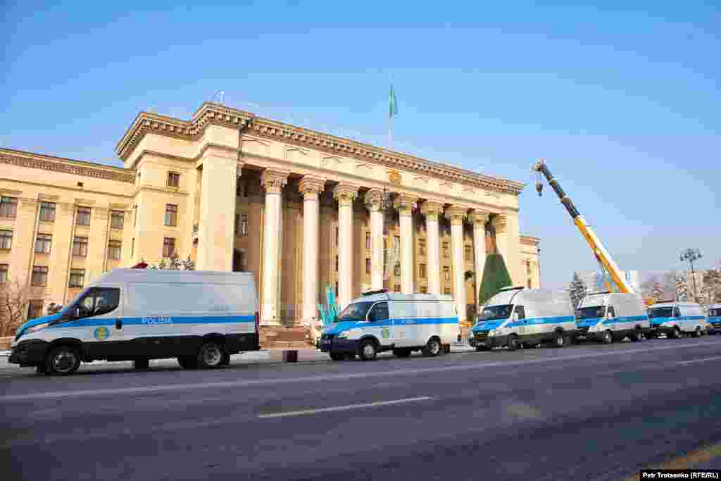
[[[476,350],[552,343],[570,344],[576,325],[567,294],[544,289],[508,287],[501,289],[483,306],[472,328],[470,345]]]

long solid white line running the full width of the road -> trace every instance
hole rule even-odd
[[[592,358],[606,358],[606,357],[618,357],[625,356],[628,354],[645,354],[653,351],[660,350],[679,350],[685,348],[707,348],[707,343],[693,343],[693,344],[678,344],[671,343],[659,348],[647,348],[647,349],[631,349],[631,350],[605,350],[599,353],[589,354],[576,354],[574,356],[559,356],[557,358],[541,358],[541,359],[527,359],[525,361],[496,361],[496,362],[483,362],[477,364],[463,364],[461,366],[439,366],[435,368],[423,368],[423,369],[397,369],[394,371],[381,371],[381,372],[367,372],[367,373],[355,373],[355,374],[321,374],[319,376],[308,376],[308,377],[293,377],[285,379],[257,379],[252,381],[220,381],[210,383],[195,383],[195,384],[169,384],[165,386],[143,386],[143,387],[120,387],[113,389],[85,389],[82,391],[56,391],[56,392],[37,392],[31,394],[10,394],[6,396],[0,396],[0,403],[7,402],[18,402],[27,400],[55,400],[63,399],[67,397],[86,397],[86,396],[105,396],[110,394],[153,394],[156,392],[172,392],[172,391],[192,391],[195,389],[218,389],[224,387],[254,387],[254,386],[267,386],[273,384],[288,384],[291,382],[328,382],[328,381],[349,381],[350,379],[364,379],[370,377],[390,377],[390,376],[407,376],[409,374],[429,374],[439,373],[446,371],[468,371],[472,369],[488,369],[492,367],[513,367],[513,366],[526,366],[532,364],[552,363],[558,361],[573,361],[575,359],[592,359]],[[501,354],[499,353],[499,356]]]

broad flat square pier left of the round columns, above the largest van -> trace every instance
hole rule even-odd
[[[229,158],[225,151],[209,148],[203,154],[198,270],[233,270],[237,168],[238,160]],[[141,244],[138,241],[136,244]]]

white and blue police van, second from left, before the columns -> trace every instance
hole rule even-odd
[[[343,309],[323,332],[320,349],[333,361],[358,355],[371,361],[392,350],[401,358],[420,350],[438,356],[460,333],[451,296],[389,294],[386,289],[362,294]]]

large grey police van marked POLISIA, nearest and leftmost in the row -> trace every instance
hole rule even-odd
[[[61,375],[98,360],[216,368],[259,349],[258,320],[252,273],[115,269],[60,312],[20,326],[8,361]]]

